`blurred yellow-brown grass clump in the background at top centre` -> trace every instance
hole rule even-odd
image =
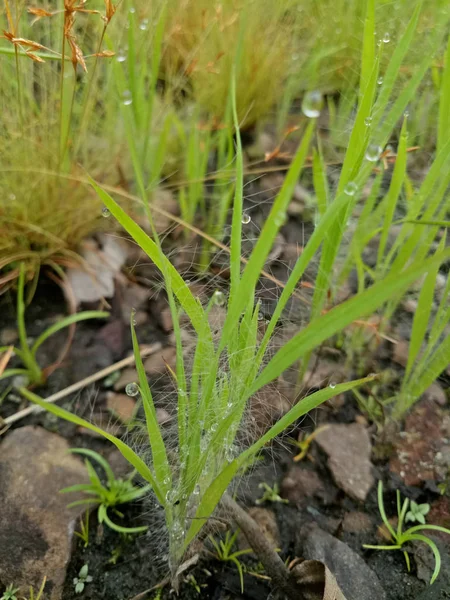
[[[280,97],[293,52],[292,2],[170,0],[162,71],[217,120],[225,117],[239,52],[236,103],[241,127],[268,114]]]

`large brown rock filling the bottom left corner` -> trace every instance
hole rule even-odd
[[[75,494],[64,487],[89,483],[83,463],[68,454],[59,435],[21,427],[0,445],[0,584],[28,594],[47,576],[45,598],[59,600],[76,519],[85,507],[67,508]],[[79,498],[79,496],[78,496]]]

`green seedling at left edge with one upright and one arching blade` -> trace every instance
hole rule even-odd
[[[37,338],[32,346],[28,342],[27,331],[25,328],[25,267],[23,264],[20,266],[20,274],[17,288],[17,329],[19,333],[20,348],[13,348],[13,354],[18,356],[23,363],[22,368],[6,369],[0,375],[1,379],[7,379],[8,377],[14,377],[15,375],[21,375],[25,377],[29,383],[40,385],[45,382],[46,373],[41,368],[36,359],[36,353],[40,346],[54,333],[57,333],[65,327],[69,327],[79,321],[86,321],[87,319],[104,319],[109,316],[109,313],[99,310],[87,310],[81,313],[70,315],[65,319],[62,319],[58,323],[51,325]],[[0,347],[0,353],[8,351],[7,346]]]

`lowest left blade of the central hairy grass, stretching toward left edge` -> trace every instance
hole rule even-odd
[[[145,464],[145,462],[129,446],[127,446],[124,442],[122,442],[122,440],[119,440],[119,438],[115,437],[114,435],[111,435],[110,433],[103,431],[103,429],[101,429],[100,427],[97,427],[96,425],[89,423],[89,421],[86,421],[85,419],[82,419],[81,417],[78,417],[77,415],[72,414],[68,410],[65,410],[64,408],[56,406],[55,404],[46,402],[45,400],[43,400],[36,394],[33,394],[33,392],[30,392],[26,388],[19,388],[19,392],[22,394],[22,396],[24,396],[24,398],[26,398],[30,402],[37,404],[44,410],[51,412],[52,414],[56,415],[60,419],[65,419],[66,421],[69,421],[70,423],[74,423],[75,425],[79,425],[80,427],[85,427],[86,429],[89,429],[90,431],[94,431],[95,433],[103,436],[104,438],[106,438],[107,440],[112,442],[116,446],[116,448],[119,450],[119,452],[122,454],[122,456],[125,458],[125,460],[127,460],[136,469],[136,471],[146,481],[149,482],[149,484],[152,486],[153,491],[155,492],[155,495],[158,498],[158,501],[160,502],[160,504],[162,504],[162,506],[165,505],[165,503],[166,503],[165,497],[164,497],[163,492],[160,489],[158,482],[156,481],[153,473],[148,468],[148,466]]]

